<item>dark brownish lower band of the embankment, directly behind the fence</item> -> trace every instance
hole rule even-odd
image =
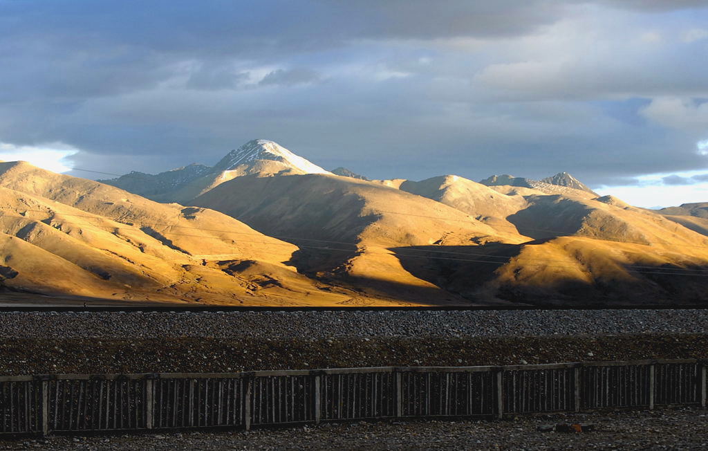
[[[708,358],[708,333],[472,338],[4,338],[0,375]]]

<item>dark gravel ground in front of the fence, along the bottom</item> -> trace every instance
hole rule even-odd
[[[537,430],[538,426],[556,423],[590,423],[595,430],[590,433]],[[339,423],[250,432],[0,441],[0,450],[695,450],[704,447],[708,447],[708,415],[703,409],[527,416],[513,421]]]

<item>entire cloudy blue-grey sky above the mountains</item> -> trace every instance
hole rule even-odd
[[[2,160],[156,173],[272,139],[708,201],[708,0],[0,0],[0,30]]]

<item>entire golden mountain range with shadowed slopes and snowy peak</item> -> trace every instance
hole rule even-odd
[[[0,164],[0,290],[272,306],[708,302],[708,202],[568,173],[368,180],[258,139],[91,181]]]

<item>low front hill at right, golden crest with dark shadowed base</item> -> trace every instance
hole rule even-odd
[[[708,303],[704,248],[564,236],[479,248],[418,246],[416,256],[432,256],[430,261],[411,258],[412,250],[396,249],[406,270],[474,302],[503,299],[513,304],[558,306]],[[441,255],[458,259],[434,258]]]

